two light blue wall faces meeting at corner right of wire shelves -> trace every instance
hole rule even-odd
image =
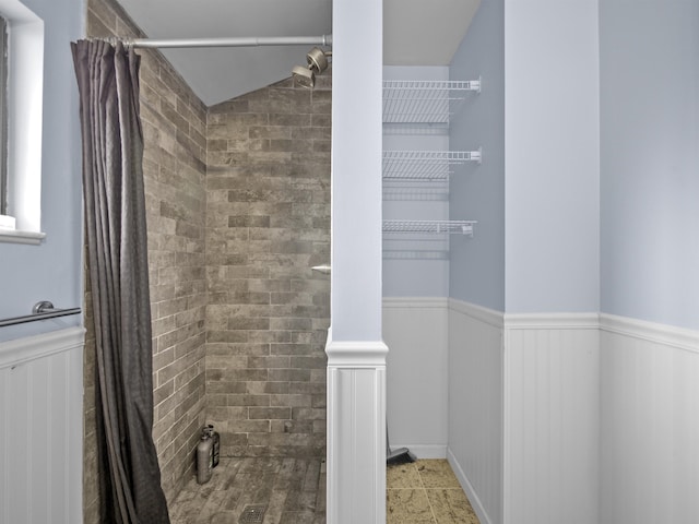
[[[450,296],[510,313],[600,306],[596,2],[487,0],[451,64],[483,75],[452,150],[483,165],[452,177],[450,216],[478,221],[452,245]]]

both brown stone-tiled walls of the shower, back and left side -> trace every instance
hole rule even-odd
[[[114,0],[87,7],[88,36],[143,36]],[[224,456],[324,456],[330,281],[311,266],[330,258],[330,78],[205,107],[162,55],[139,53],[153,434],[171,501],[205,422]],[[99,497],[85,323],[90,523]]]

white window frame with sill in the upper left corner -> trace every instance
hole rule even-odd
[[[44,21],[20,0],[0,0],[8,23],[7,215],[0,242],[38,245],[42,233]]]

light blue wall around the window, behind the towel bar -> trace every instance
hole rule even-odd
[[[83,0],[23,0],[44,20],[40,246],[0,243],[0,318],[39,300],[82,306],[82,183],[78,86],[70,41],[84,35]],[[79,317],[0,327],[0,341],[79,325]]]

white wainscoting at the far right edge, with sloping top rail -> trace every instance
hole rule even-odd
[[[699,333],[601,317],[602,524],[699,522]]]

